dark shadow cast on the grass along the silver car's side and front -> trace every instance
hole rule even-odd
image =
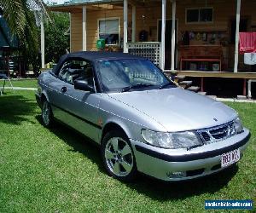
[[[36,119],[41,123],[40,116],[36,116]],[[99,170],[106,174],[100,149],[95,143],[91,143],[89,139],[63,124],[55,124],[50,131],[73,147],[69,151],[84,154],[85,158],[89,158],[93,163],[96,163]],[[232,177],[236,175],[237,170],[237,165],[234,165],[212,176],[181,182],[164,182],[148,176],[138,175],[135,181],[123,184],[155,200],[186,199],[202,193],[218,192],[218,190],[228,185]]]

